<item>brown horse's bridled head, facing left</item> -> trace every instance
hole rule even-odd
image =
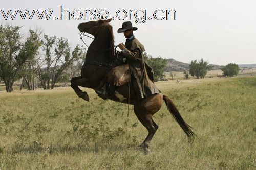
[[[77,28],[80,32],[86,32],[95,36],[97,31],[101,28],[101,26],[105,25],[106,23],[109,23],[111,20],[112,18],[106,20],[100,19],[97,21],[83,22],[80,23]]]

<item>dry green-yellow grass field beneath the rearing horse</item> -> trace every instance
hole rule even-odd
[[[70,87],[1,91],[0,169],[256,169],[256,77],[156,84],[197,130],[193,144],[164,103],[145,155],[147,131],[125,104],[90,89],[90,102]]]

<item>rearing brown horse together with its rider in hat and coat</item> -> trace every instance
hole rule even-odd
[[[71,79],[71,87],[77,96],[89,102],[88,93],[82,91],[78,86],[96,91],[104,86],[109,91],[108,99],[132,104],[135,115],[148,131],[145,140],[139,145],[139,148],[142,148],[145,153],[148,152],[150,141],[158,129],[158,125],[154,122],[152,116],[160,110],[163,101],[170,114],[187,135],[189,141],[193,141],[195,137],[193,129],[181,117],[172,100],[160,93],[155,86],[153,71],[143,59],[144,46],[134,38],[133,30],[137,30],[137,28],[132,27],[131,22],[124,22],[122,28],[118,29],[118,32],[123,32],[127,38],[125,45],[118,45],[122,50],[120,54],[126,59],[126,63],[121,62],[121,65],[113,67],[113,65],[116,65],[113,64],[113,60],[119,58],[114,55],[114,36],[112,26],[109,24],[111,20],[110,18],[88,21],[78,25],[81,33],[89,33],[95,38],[88,47],[81,76]],[[129,81],[132,82],[133,86],[130,86]],[[109,85],[106,86],[104,84]],[[117,86],[115,94],[108,90],[114,86]]]

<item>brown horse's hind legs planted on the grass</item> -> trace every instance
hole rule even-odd
[[[141,124],[147,129],[148,135],[143,141],[141,145],[139,145],[140,148],[144,150],[145,153],[148,152],[148,147],[150,144],[150,141],[152,140],[154,134],[156,133],[158,129],[158,125],[154,122],[152,119],[152,115],[154,114],[146,114],[145,112],[141,112],[138,110],[136,106],[134,106],[134,112],[141,122]]]

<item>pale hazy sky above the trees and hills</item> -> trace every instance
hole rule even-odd
[[[67,19],[67,12],[59,17],[60,6],[62,10],[74,11],[74,17]],[[209,64],[227,65],[256,64],[256,1],[255,0],[180,0],[180,1],[3,1],[0,10],[7,14],[8,10],[53,10],[49,20],[45,17],[38,19],[35,13],[30,20],[24,20],[17,13],[15,19],[5,19],[0,11],[0,24],[22,26],[25,34],[29,29],[40,28],[50,36],[65,37],[72,46],[82,45],[79,39],[77,26],[81,22],[90,21],[93,15],[106,11],[114,17],[110,22],[113,26],[115,44],[125,43],[122,33],[117,33],[124,21],[131,21],[138,30],[134,31],[135,37],[145,46],[147,54],[153,57],[174,58],[177,61],[189,63],[191,60],[203,58]],[[80,10],[88,10],[87,16],[79,19]],[[105,11],[104,11],[105,10]],[[130,10],[130,11],[129,11]],[[169,18],[166,19],[166,10]],[[174,12],[176,11],[176,20]],[[125,18],[125,12],[127,16]],[[137,19],[134,16],[137,12]],[[154,18],[153,13],[156,12]],[[118,17],[116,16],[118,13]],[[131,14],[130,18],[128,14]],[[152,19],[148,19],[151,17]],[[145,19],[143,19],[145,18]],[[160,18],[163,18],[160,20]],[[95,20],[98,20],[95,19]],[[84,38],[86,43],[92,40]]]

